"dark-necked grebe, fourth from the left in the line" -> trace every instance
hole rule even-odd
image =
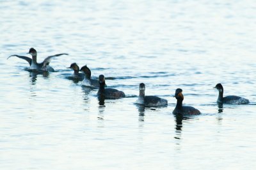
[[[99,84],[100,88],[97,93],[98,97],[104,98],[104,99],[119,99],[121,97],[125,97],[124,92],[118,91],[116,89],[105,89],[105,78],[104,75],[99,75]]]

